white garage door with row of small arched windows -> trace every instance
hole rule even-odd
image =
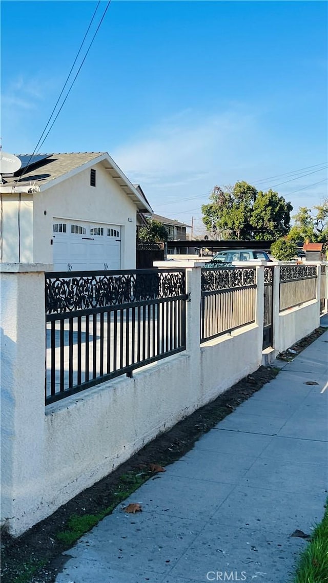
[[[53,262],[55,271],[120,269],[120,227],[54,219]]]

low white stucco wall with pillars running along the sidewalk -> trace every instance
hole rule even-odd
[[[1,516],[17,536],[260,366],[264,269],[256,268],[254,324],[200,346],[201,270],[187,268],[186,351],[46,408],[44,275],[15,269],[2,274],[0,288]],[[318,305],[279,315],[279,350],[316,328]]]

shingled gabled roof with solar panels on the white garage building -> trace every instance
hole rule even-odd
[[[22,154],[18,154],[22,155]],[[32,155],[32,154],[31,154]],[[29,157],[30,154],[24,154]],[[46,159],[30,164],[27,171],[19,170],[11,177],[4,176],[1,192],[38,192],[51,188],[96,164],[102,163],[111,178],[120,185],[125,194],[137,205],[138,209],[152,212],[145,195],[137,190],[107,152],[72,152],[51,154]]]

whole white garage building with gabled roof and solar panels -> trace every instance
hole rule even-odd
[[[2,262],[135,268],[137,214],[152,209],[109,154],[18,157],[22,168],[0,184]]]

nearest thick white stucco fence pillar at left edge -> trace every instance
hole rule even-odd
[[[36,521],[44,487],[46,317],[43,264],[0,264],[1,523],[14,536]]]

